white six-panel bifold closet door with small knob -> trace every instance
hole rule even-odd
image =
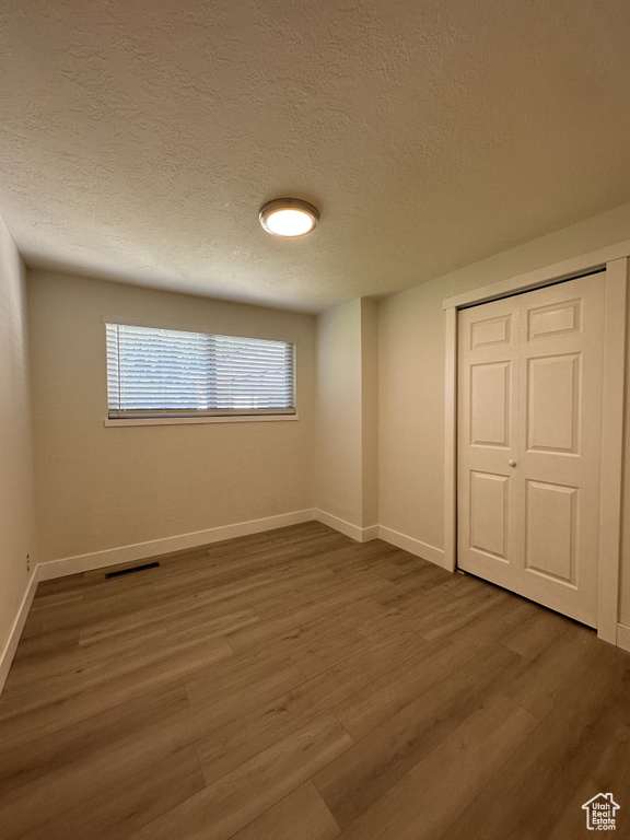
[[[457,565],[595,627],[604,283],[459,312]]]

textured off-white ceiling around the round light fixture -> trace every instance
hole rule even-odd
[[[3,0],[26,261],[322,311],[630,200],[628,0]],[[322,213],[279,241],[260,205]]]

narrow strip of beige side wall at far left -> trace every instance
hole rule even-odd
[[[0,653],[35,557],[24,267],[0,220]]]

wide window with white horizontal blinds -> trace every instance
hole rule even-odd
[[[294,415],[294,345],[107,324],[109,419]]]

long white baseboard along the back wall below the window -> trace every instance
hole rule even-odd
[[[131,546],[108,548],[104,551],[93,551],[89,555],[77,555],[75,557],[65,557],[60,560],[49,560],[46,563],[39,563],[39,580],[49,581],[54,578],[63,578],[67,574],[91,572],[94,569],[103,569],[106,565],[144,560],[148,557],[168,555],[172,551],[184,551],[187,548],[198,548],[199,546],[207,546],[210,542],[220,542],[223,539],[233,539],[234,537],[246,537],[250,534],[260,534],[265,530],[283,528],[288,525],[299,525],[302,522],[311,522],[312,520],[313,511],[311,509],[293,511],[292,513],[281,513],[278,516],[267,516],[264,520],[237,522],[233,525],[196,530],[191,534],[179,534],[176,537],[151,539],[148,542],[136,542]]]

